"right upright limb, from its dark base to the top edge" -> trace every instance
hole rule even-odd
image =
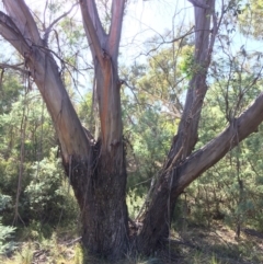
[[[155,251],[169,234],[173,209],[183,191],[176,184],[183,176],[179,167],[191,154],[197,142],[201,112],[207,92],[206,74],[218,27],[215,19],[213,20],[215,30],[214,32],[209,30],[211,18],[215,18],[215,0],[198,1],[204,7],[196,5],[196,1],[191,2],[194,3],[195,12],[195,54],[192,80],[188,84],[178,134],[150,195],[149,207],[145,208],[144,226],[138,236],[138,248],[144,249],[147,254]]]

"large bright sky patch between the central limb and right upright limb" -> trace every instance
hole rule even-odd
[[[144,43],[150,37],[163,36],[174,24],[191,23],[192,13],[193,8],[188,1],[140,0],[130,3],[124,18],[121,45],[121,48],[129,48],[126,60],[146,53]]]

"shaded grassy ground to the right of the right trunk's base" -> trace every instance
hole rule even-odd
[[[170,251],[178,255],[170,263],[263,263],[263,233],[252,229],[242,230],[239,239],[222,225],[210,229],[195,227],[172,237]]]

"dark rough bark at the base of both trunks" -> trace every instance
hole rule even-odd
[[[151,214],[148,213],[142,221],[142,228],[140,226],[135,230],[134,226],[128,227],[126,171],[123,170],[123,174],[118,175],[110,173],[116,167],[115,161],[110,156],[102,157],[98,146],[93,146],[92,153],[88,161],[72,157],[69,163],[64,162],[81,209],[83,246],[90,254],[107,260],[118,260],[125,254],[150,255],[163,249],[172,216],[169,206],[169,181],[159,183],[162,184],[159,195],[156,196],[159,202],[151,203],[158,204],[158,208],[151,209]],[[163,217],[152,214],[162,214]],[[160,228],[156,229],[157,226]]]

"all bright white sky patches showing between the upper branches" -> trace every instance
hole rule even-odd
[[[45,0],[25,0],[33,10],[44,10]],[[49,0],[56,2],[56,0]],[[66,10],[70,4],[65,5]],[[75,11],[76,12],[76,11]],[[100,12],[100,10],[99,10]],[[77,18],[81,21],[80,12]],[[146,41],[155,35],[164,35],[172,31],[174,25],[193,24],[193,7],[187,0],[130,0],[124,16],[122,42],[119,51],[121,62],[132,65],[134,61],[146,59]],[[54,20],[54,19],[53,19]],[[259,42],[247,42],[243,36],[235,33],[232,36],[235,49],[239,49],[243,44],[247,49],[262,49]],[[2,43],[1,43],[2,46]],[[3,46],[2,46],[3,47]],[[90,85],[90,84],[89,84]]]

